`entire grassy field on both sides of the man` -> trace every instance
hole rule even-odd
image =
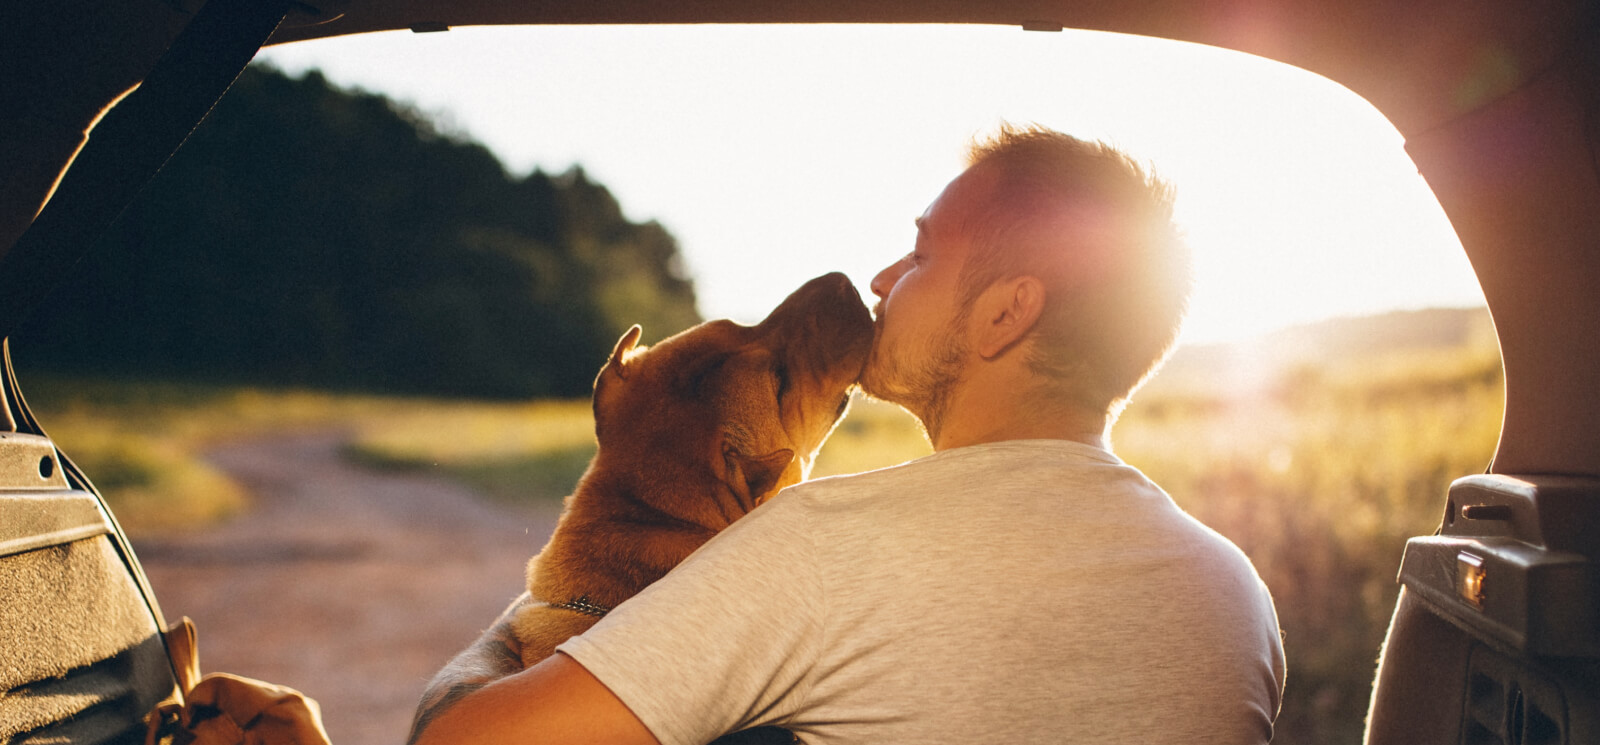
[[[1176,368],[1176,366],[1174,366]],[[226,438],[346,428],[349,456],[451,473],[491,499],[560,499],[594,452],[587,401],[475,403],[24,377],[40,420],[131,531],[203,528],[248,494],[200,457]],[[1290,681],[1280,743],[1358,743],[1405,539],[1498,436],[1493,345],[1158,377],[1114,446],[1243,548],[1272,588]],[[856,401],[816,475],[928,452],[898,408]]]

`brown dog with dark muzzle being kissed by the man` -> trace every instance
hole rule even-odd
[[[624,333],[595,377],[598,451],[528,563],[533,603],[512,620],[523,665],[805,480],[850,408],[872,334],[872,313],[837,272],[755,326],[709,321],[653,347],[638,345],[638,326]],[[771,739],[739,742],[792,742],[762,731]]]

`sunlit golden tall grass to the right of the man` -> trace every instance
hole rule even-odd
[[[1405,540],[1480,473],[1504,408],[1493,349],[1296,368],[1253,390],[1136,400],[1115,449],[1250,555],[1290,662],[1278,743],[1358,743]]]

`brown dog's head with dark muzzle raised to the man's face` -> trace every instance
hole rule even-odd
[[[850,406],[872,315],[850,280],[830,273],[755,326],[709,321],[653,347],[638,336],[638,326],[622,334],[595,379],[600,452],[590,473],[632,476],[614,486],[723,528],[810,475]]]

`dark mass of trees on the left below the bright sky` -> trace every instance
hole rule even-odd
[[[253,66],[13,337],[54,372],[480,396],[589,390],[699,321],[674,237],[571,168],[320,72]]]

